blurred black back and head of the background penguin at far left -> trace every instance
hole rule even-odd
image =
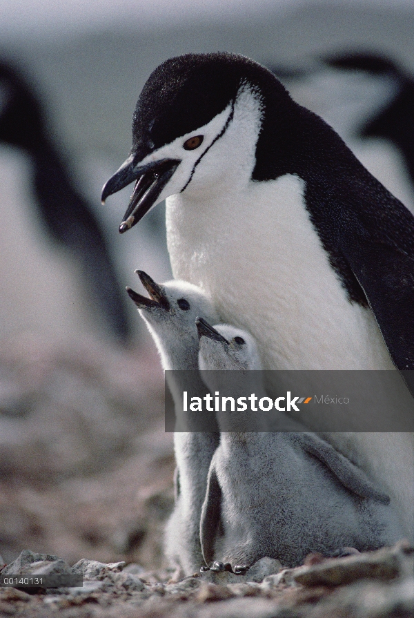
[[[44,230],[81,267],[84,289],[108,335],[126,342],[131,335],[126,303],[99,221],[75,189],[37,95],[4,61],[0,62],[0,144],[19,148],[30,158],[32,191]]]

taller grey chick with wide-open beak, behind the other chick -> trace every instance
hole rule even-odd
[[[192,432],[192,414],[183,418],[182,393],[186,390],[188,396],[190,393],[204,396],[207,392],[198,372],[195,318],[201,314],[217,320],[217,313],[206,294],[195,285],[184,281],[159,285],[143,271],[137,273],[150,298],[127,287],[128,294],[155,340],[163,368],[177,370],[172,376],[175,383],[169,382],[178,426],[174,433],[176,503],[166,528],[166,554],[177,568],[174,578],[181,579],[197,572],[203,563],[199,540],[201,506],[206,494],[208,467],[219,443],[219,433],[211,432],[212,427],[217,426],[215,418],[208,417],[208,413],[204,414],[206,431],[203,432],[202,425],[197,423],[197,430]],[[182,428],[180,432],[181,421],[190,433],[182,432]]]

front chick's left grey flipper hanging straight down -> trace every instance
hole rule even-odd
[[[201,510],[200,543],[204,561],[208,566],[214,560],[215,539],[221,515],[221,487],[215,472],[214,460],[207,477],[207,491]]]

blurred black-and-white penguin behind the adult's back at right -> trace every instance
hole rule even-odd
[[[333,127],[364,167],[414,213],[409,146],[397,131],[411,133],[410,76],[397,66],[392,70],[386,57],[351,51],[304,59],[300,66],[268,66],[290,96]],[[400,95],[408,104],[401,108]]]

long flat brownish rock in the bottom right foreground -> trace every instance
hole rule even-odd
[[[360,579],[390,581],[406,572],[409,554],[409,546],[399,543],[376,552],[329,558],[295,569],[293,579],[303,586],[342,586]]]

